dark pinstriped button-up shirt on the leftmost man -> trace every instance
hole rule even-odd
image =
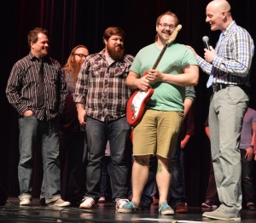
[[[67,84],[59,62],[44,59],[44,106],[38,106],[38,79],[41,60],[32,53],[18,60],[13,66],[6,88],[9,103],[23,116],[31,110],[39,120],[52,119],[63,111]]]

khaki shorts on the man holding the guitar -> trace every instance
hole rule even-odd
[[[148,109],[133,130],[133,156],[171,158],[183,123],[183,112]]]

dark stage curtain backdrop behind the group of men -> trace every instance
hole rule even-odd
[[[230,1],[233,19],[247,29],[256,42],[253,0]],[[1,56],[1,153],[0,183],[9,196],[19,195],[17,165],[19,129],[17,113],[5,96],[6,83],[14,63],[28,54],[28,31],[42,26],[49,31],[50,55],[64,65],[77,44],[88,46],[90,53],[103,48],[102,33],[108,26],[121,26],[126,32],[125,46],[129,54],[154,42],[155,20],[166,10],[177,14],[182,31],[177,42],[193,46],[203,54],[201,38],[207,35],[212,46],[219,32],[210,31],[205,22],[206,0],[9,0],[2,3],[0,23]],[[254,18],[254,19],[253,19]],[[256,108],[255,58],[252,69],[251,107]],[[211,89],[206,89],[207,76],[201,72],[196,86],[196,133],[187,148],[186,192],[189,205],[200,205],[207,190],[209,142],[204,132]],[[34,196],[38,197],[42,181],[40,152],[34,162]]]

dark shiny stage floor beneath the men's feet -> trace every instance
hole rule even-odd
[[[40,206],[38,199],[32,200],[32,206],[20,207],[16,197],[9,197],[5,206],[0,207],[0,222],[234,222],[233,220],[209,220],[201,214],[209,209],[189,207],[188,214],[159,215],[158,205],[150,211],[138,211],[134,214],[119,214],[114,203],[99,203],[97,209],[86,211],[79,208],[49,208]],[[256,211],[241,211],[243,223],[256,222]]]

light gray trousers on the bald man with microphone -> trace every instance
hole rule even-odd
[[[239,87],[213,94],[209,127],[219,209],[237,215],[241,210],[241,155],[239,139],[247,95]]]

